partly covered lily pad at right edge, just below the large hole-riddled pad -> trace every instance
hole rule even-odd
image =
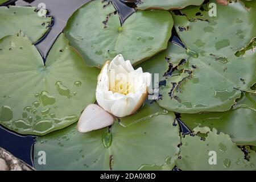
[[[209,126],[229,134],[238,145],[256,146],[255,95],[243,95],[242,100],[225,112],[207,114],[181,114],[181,120],[191,129]]]

